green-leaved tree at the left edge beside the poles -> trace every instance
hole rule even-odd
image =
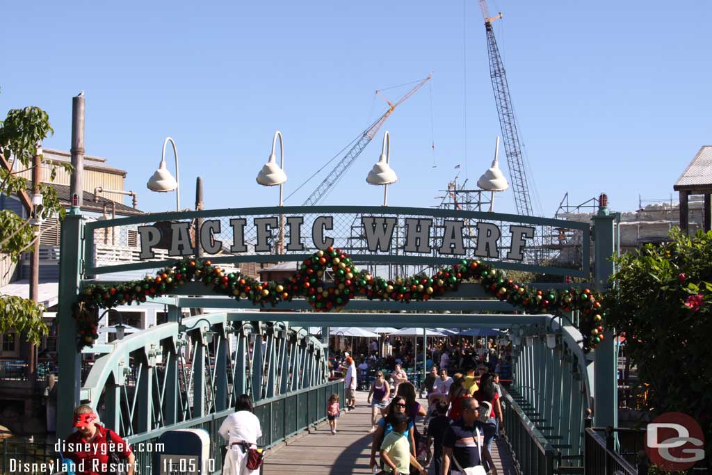
[[[13,109],[5,120],[0,121],[0,161],[10,162],[11,167],[0,167],[0,194],[7,196],[27,190],[29,180],[20,177],[21,172],[33,168],[33,157],[41,142],[53,133],[45,111],[37,107]],[[50,179],[54,180],[57,169],[71,170],[71,165],[64,162],[51,162],[41,157],[41,163],[50,170]],[[38,229],[33,225],[33,218],[64,217],[64,208],[57,197],[56,190],[47,184],[40,184],[43,209],[40,216],[22,216],[9,210],[0,211],[0,254],[16,262],[23,252],[28,251],[41,233],[48,229]],[[48,328],[42,320],[41,305],[26,298],[0,295],[0,333],[15,330],[25,333],[28,341],[39,343]]]

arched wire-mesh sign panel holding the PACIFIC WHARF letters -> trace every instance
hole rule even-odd
[[[439,266],[454,258],[482,259],[501,268],[587,278],[589,235],[588,223],[449,209],[218,209],[88,223],[85,263],[86,274],[95,275],[157,268],[199,254],[215,263],[300,261],[334,246],[357,263]]]

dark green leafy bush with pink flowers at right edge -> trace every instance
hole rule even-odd
[[[647,409],[690,414],[712,441],[712,232],[648,244],[617,259],[607,325],[649,391]]]

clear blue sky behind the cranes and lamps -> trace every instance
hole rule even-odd
[[[709,1],[498,0],[490,10],[505,15],[495,28],[546,215],[567,191],[575,202],[606,191],[622,211],[639,194],[668,197],[712,143]],[[277,189],[255,177],[274,130],[286,141],[289,194],[382,111],[375,89],[429,71],[432,95],[423,88],[384,126],[399,175],[389,204],[435,204],[457,164],[476,182],[500,133],[475,0],[465,10],[462,0],[12,1],[2,16],[0,113],[40,106],[56,132],[45,146],[69,150],[71,98],[85,90],[87,154],[126,169],[147,211],[175,206],[173,194],[146,189],[167,135],[184,206],[197,175],[206,207],[273,205]],[[381,202],[365,182],[381,139],[328,203]],[[513,212],[511,192],[497,208]]]

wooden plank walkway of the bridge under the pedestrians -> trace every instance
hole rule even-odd
[[[263,475],[373,475],[368,466],[371,455],[371,408],[366,405],[366,392],[357,392],[356,410],[339,417],[337,433],[332,435],[327,423],[313,434],[268,451]],[[424,404],[425,400],[420,400]],[[326,405],[326,404],[324,404]],[[422,432],[422,427],[420,428]],[[493,457],[500,475],[514,475],[509,449],[503,441],[492,444]],[[429,475],[435,474],[434,464]]]

